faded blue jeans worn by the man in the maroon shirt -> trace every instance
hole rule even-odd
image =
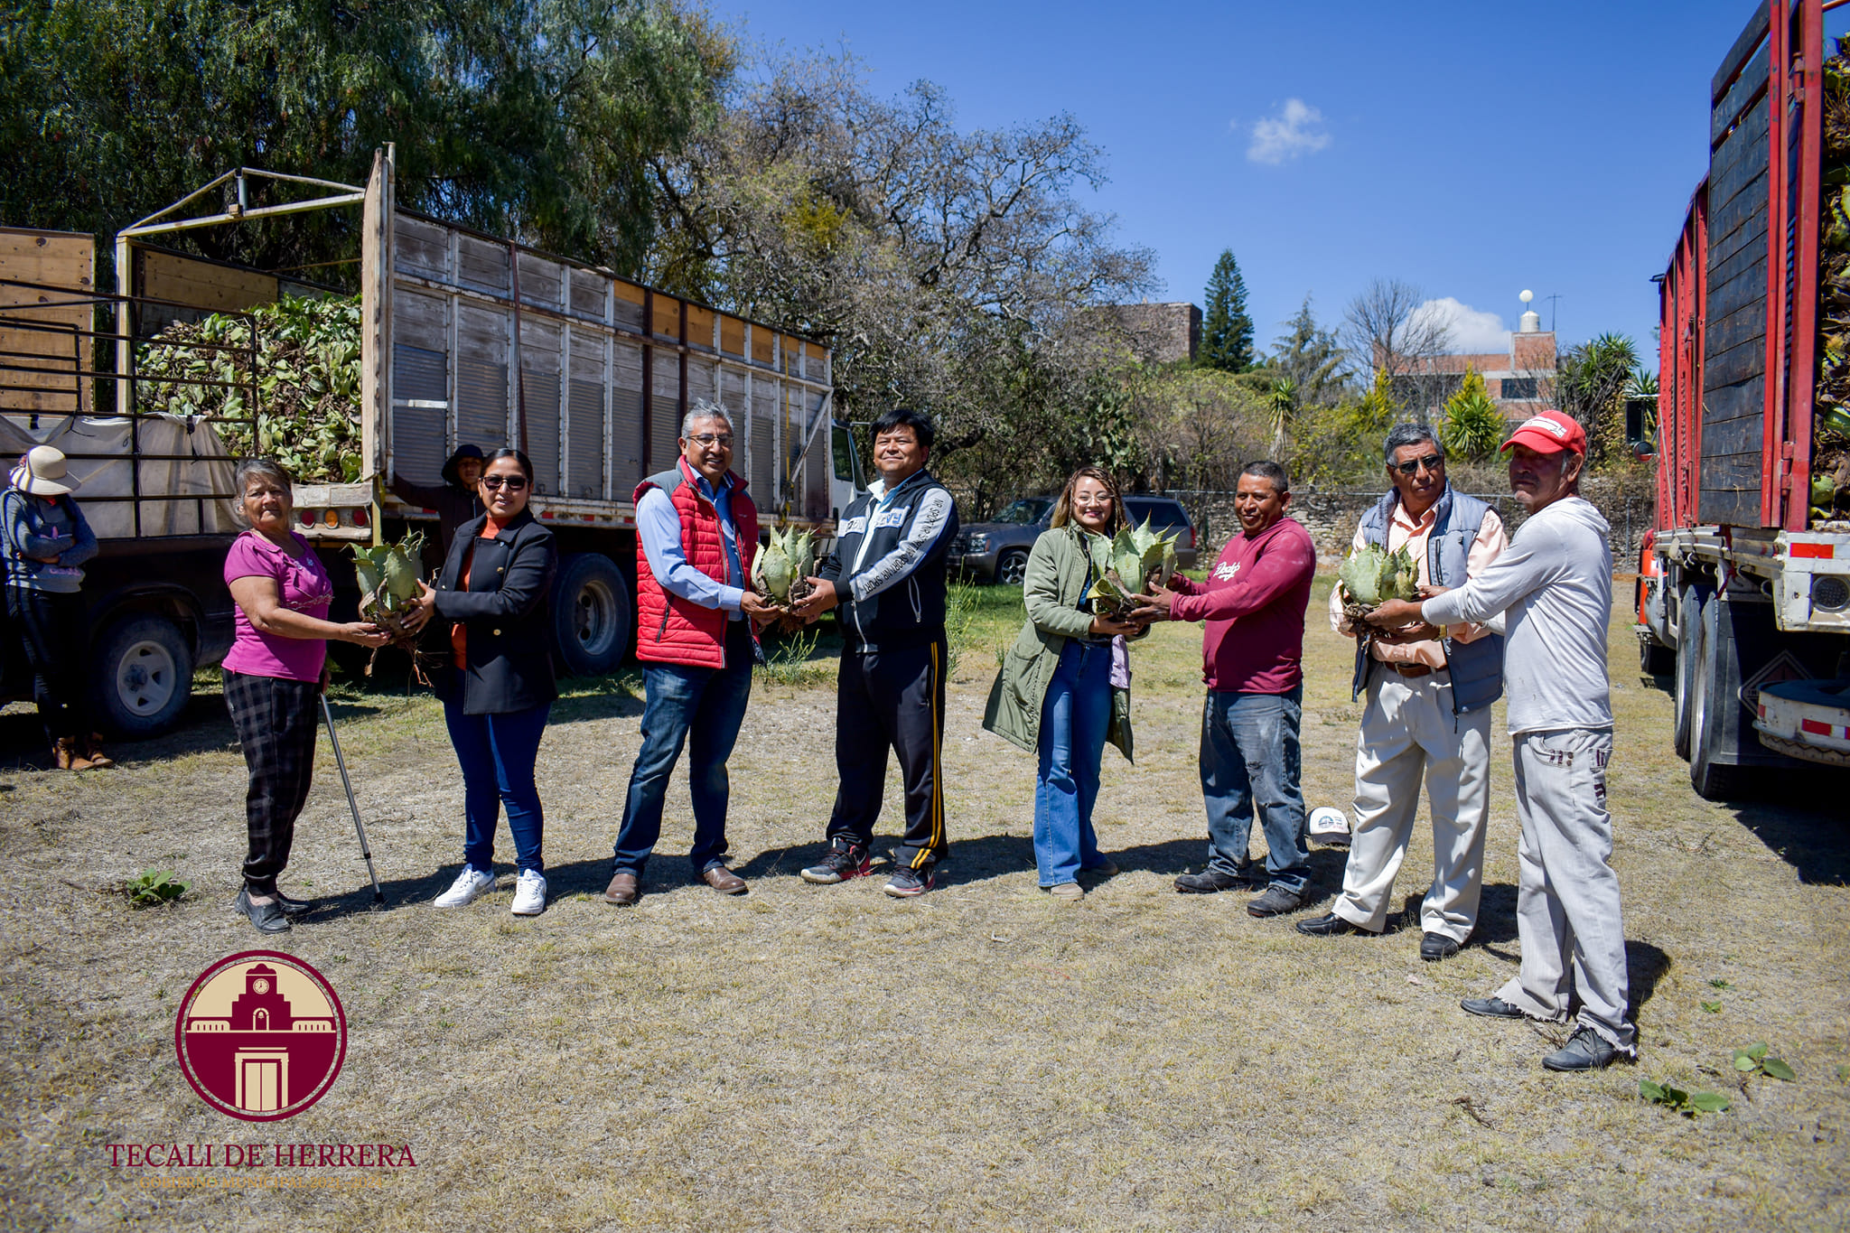
[[[1289,693],[1208,693],[1201,712],[1201,795],[1208,802],[1208,869],[1243,876],[1252,813],[1265,830],[1273,885],[1302,895],[1310,882],[1302,758],[1297,726],[1304,688]]]

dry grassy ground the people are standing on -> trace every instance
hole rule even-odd
[[[1326,586],[1326,582],[1325,582]],[[1323,595],[1319,588],[1319,597]],[[596,898],[638,743],[636,677],[574,682],[542,749],[553,900],[501,889],[440,911],[461,861],[461,784],[435,702],[339,708],[388,909],[368,911],[346,800],[322,754],[285,889],[326,908],[278,941],[335,983],[352,1039],[333,1091],[281,1124],[207,1109],[174,1057],[174,1011],[211,961],[266,946],[229,911],[244,767],[215,695],[120,769],[39,769],[0,717],[0,1200],[6,1227],[148,1229],[1841,1229],[1850,1224],[1850,810],[1793,778],[1783,800],[1696,799],[1669,697],[1613,614],[1611,775],[1635,1067],[1539,1068],[1545,1033],[1469,1019],[1515,969],[1508,763],[1484,917],[1417,958],[1430,841],[1397,897],[1412,928],[1301,937],[1245,895],[1180,897],[1204,821],[1199,627],[1134,656],[1140,763],[1106,751],[1103,847],[1121,873],[1080,904],[1034,885],[1030,758],[984,734],[986,592],[945,732],[951,861],[912,902],[881,878],[796,871],[832,799],[832,684],[760,680],[733,760],[733,854],[751,893],[696,885],[686,789],[635,909]],[[1016,608],[1014,612],[1019,612]],[[1314,617],[1321,616],[1321,599]],[[1314,621],[1304,701],[1312,804],[1347,804],[1349,643]],[[1500,725],[1500,715],[1498,715]],[[882,834],[897,834],[897,795]],[[1254,828],[1254,847],[1262,843]],[[1314,852],[1321,911],[1343,854]],[[131,909],[144,869],[192,884]],[[1737,1083],[1769,1041],[1796,1081]],[[1728,1093],[1700,1118],[1641,1078]],[[246,1176],[113,1166],[111,1142],[409,1144],[394,1172]]]

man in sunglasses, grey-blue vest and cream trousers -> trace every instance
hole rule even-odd
[[[1388,495],[1362,516],[1354,547],[1404,547],[1426,592],[1463,586],[1510,545],[1502,519],[1484,501],[1445,481],[1445,449],[1432,427],[1399,423],[1388,433]],[[1356,736],[1354,834],[1343,893],[1334,908],[1297,930],[1312,935],[1388,928],[1393,880],[1406,858],[1426,780],[1432,813],[1432,885],[1421,904],[1419,958],[1458,954],[1478,922],[1484,891],[1484,828],[1489,823],[1491,702],[1502,697],[1502,619],[1445,629],[1395,630],[1343,617],[1330,590],[1330,625],[1356,638],[1350,697],[1367,693]]]

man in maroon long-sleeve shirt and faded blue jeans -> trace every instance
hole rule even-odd
[[[1206,621],[1201,714],[1201,791],[1208,804],[1208,867],[1182,874],[1184,895],[1258,882],[1247,839],[1252,815],[1265,830],[1265,893],[1254,917],[1297,911],[1310,882],[1304,793],[1299,787],[1299,719],[1304,701],[1304,610],[1317,549],[1284,516],[1291,481],[1276,462],[1249,462],[1234,510],[1240,534],[1227,542],[1208,580],[1177,575],[1151,588],[1156,619]]]

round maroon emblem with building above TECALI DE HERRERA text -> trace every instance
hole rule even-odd
[[[346,1057],[346,1013],[327,978],[302,959],[244,950],[187,989],[174,1050],[200,1100],[248,1122],[276,1122],[333,1087]]]

